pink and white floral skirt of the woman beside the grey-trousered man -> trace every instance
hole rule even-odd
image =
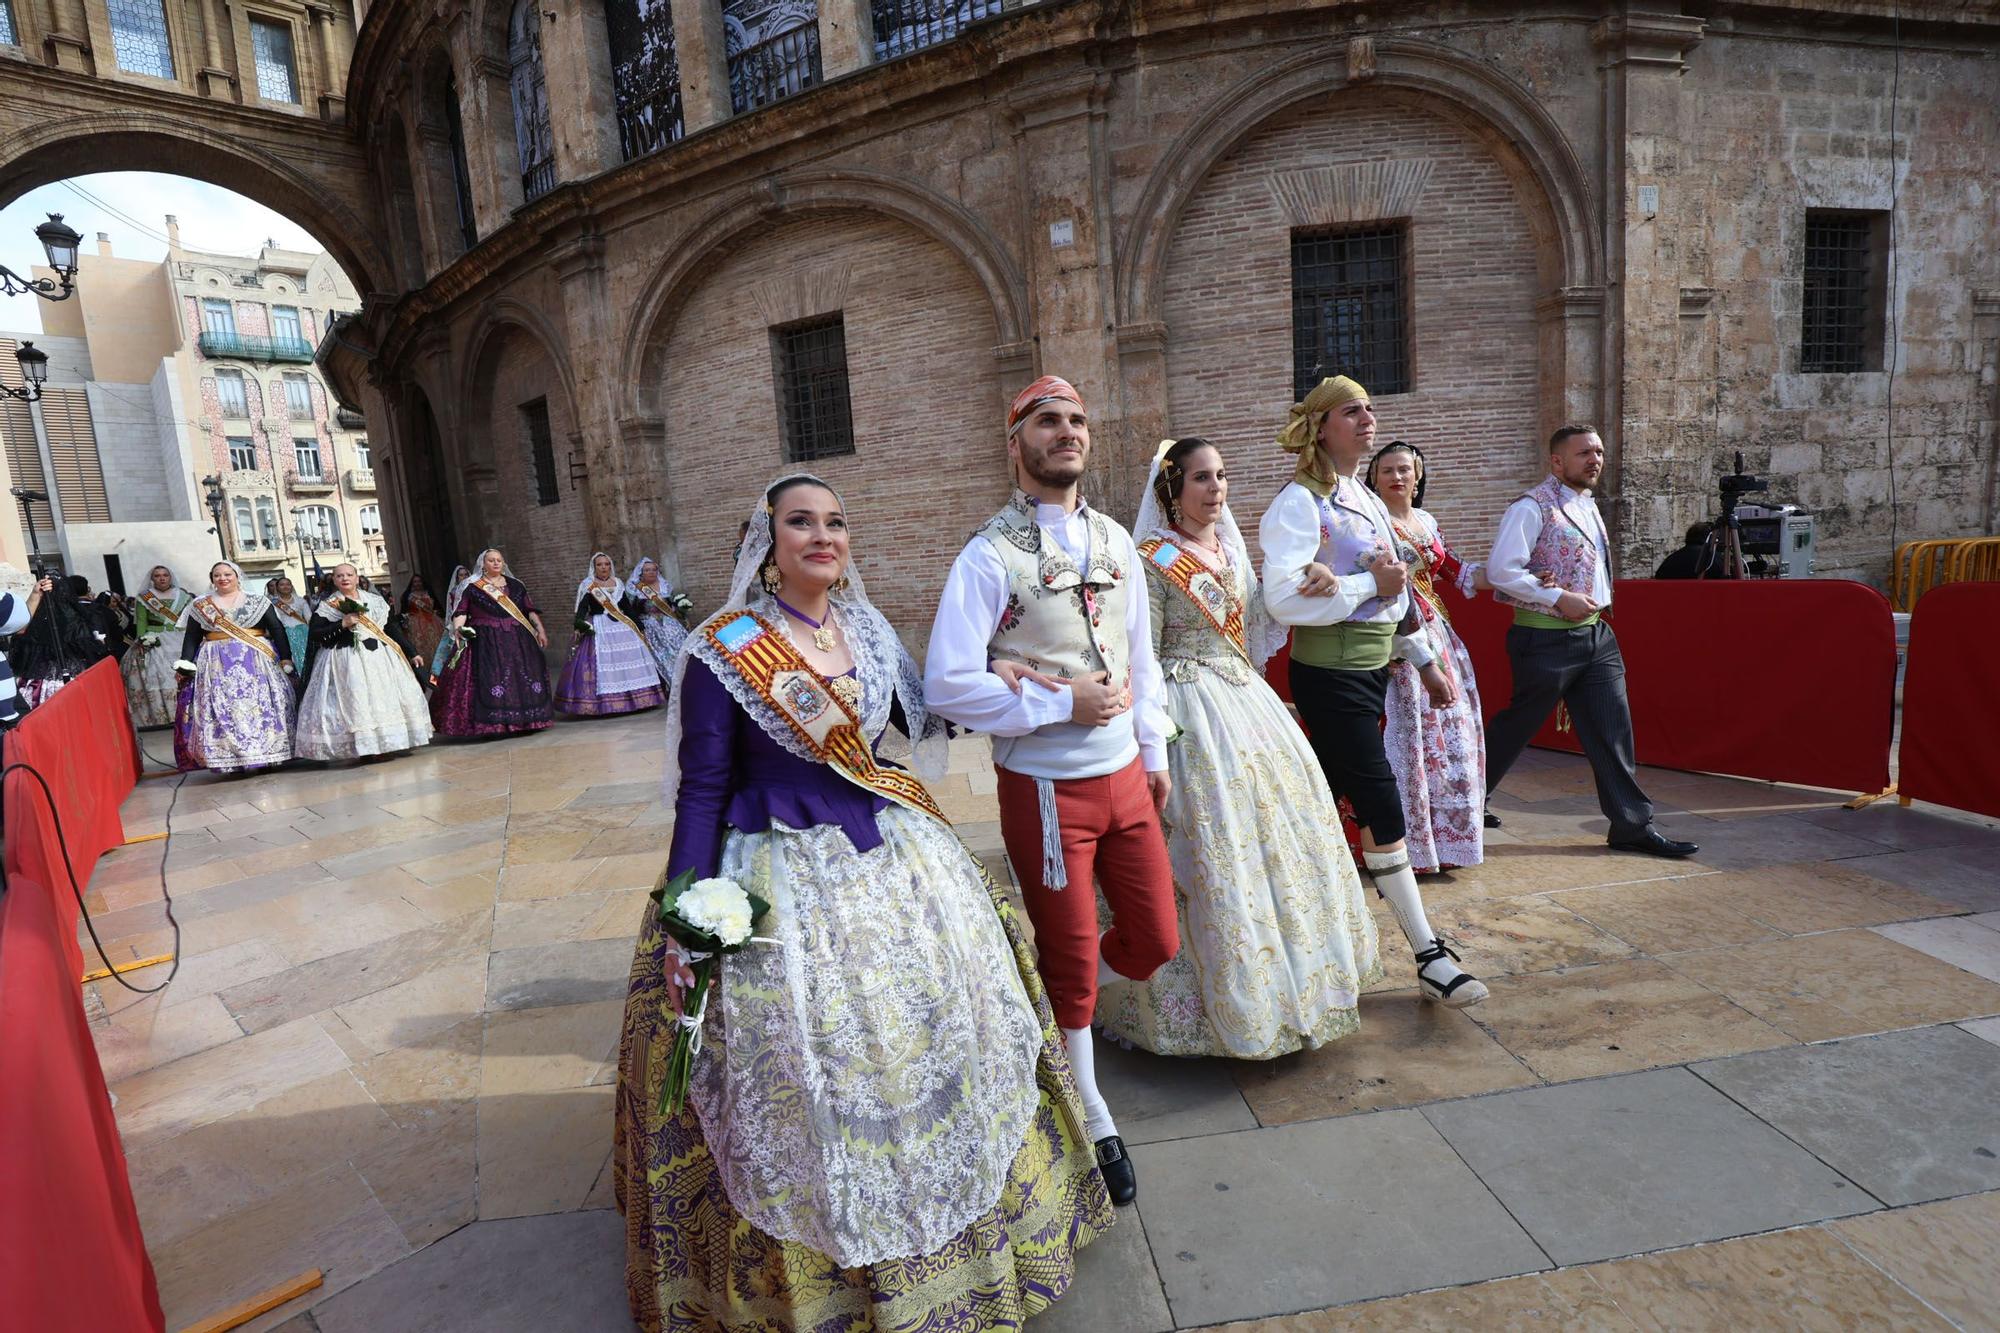
[[[1430,646],[1458,677],[1458,703],[1432,709],[1408,662],[1388,664],[1382,749],[1402,793],[1410,869],[1418,875],[1486,859],[1486,725],[1472,658],[1444,620],[1430,620]]]

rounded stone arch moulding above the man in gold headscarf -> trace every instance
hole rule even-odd
[[[1352,72],[1350,46],[1320,46],[1280,60],[1216,96],[1168,148],[1134,212],[1118,256],[1118,314],[1124,324],[1160,320],[1160,280],[1188,200],[1214,166],[1260,124],[1314,96],[1348,88],[1400,88],[1434,100],[1442,114],[1492,138],[1534,184],[1524,198],[1542,212],[1554,242],[1548,288],[1594,288],[1604,282],[1604,244],[1594,224],[1596,190],[1556,118],[1506,72],[1438,42],[1376,38],[1366,78]]]

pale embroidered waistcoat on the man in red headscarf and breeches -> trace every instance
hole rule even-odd
[[[986,640],[986,654],[1056,677],[1106,671],[1112,685],[1122,685],[1130,675],[1128,570],[1112,556],[1110,520],[1088,506],[1084,520],[1090,560],[1082,570],[1042,532],[1034,498],[1022,490],[980,526],[978,536],[992,544],[1008,580],[1006,612]]]

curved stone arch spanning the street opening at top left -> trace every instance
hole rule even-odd
[[[362,292],[402,290],[396,264],[376,244],[380,226],[348,200],[366,200],[368,188],[354,164],[322,162],[316,178],[230,134],[186,118],[140,112],[104,112],[30,126],[0,148],[0,200],[76,174],[78,162],[96,172],[172,172],[236,190],[274,208],[314,234]]]

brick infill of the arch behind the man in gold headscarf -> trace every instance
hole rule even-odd
[[[1532,446],[1536,250],[1494,156],[1420,106],[1374,96],[1280,114],[1194,192],[1166,276],[1170,434],[1222,446],[1230,508],[1254,546],[1258,518],[1294,466],[1272,440],[1292,404],[1298,214],[1280,204],[1272,176],[1374,162],[1416,172],[1428,162],[1414,200],[1402,192],[1384,200],[1410,204],[1412,392],[1376,398],[1376,438],[1424,450],[1426,508],[1472,556],[1490,544],[1500,510],[1540,474]],[[1128,496],[1118,514],[1136,508]]]

